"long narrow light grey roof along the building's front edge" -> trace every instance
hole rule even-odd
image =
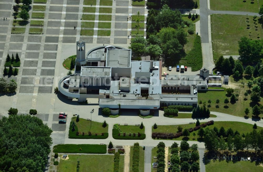
[[[134,106],[159,106],[159,100],[150,99],[99,99],[100,105],[134,105]]]

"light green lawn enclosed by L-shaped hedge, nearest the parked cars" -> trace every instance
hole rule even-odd
[[[108,132],[108,124],[107,127],[102,127],[102,123],[95,121],[88,121],[86,119],[79,119],[79,122],[76,122],[76,117],[73,117],[71,121],[74,121],[78,127],[79,132],[88,133],[89,131],[92,133],[107,133]],[[91,122],[91,127],[90,127]]]

